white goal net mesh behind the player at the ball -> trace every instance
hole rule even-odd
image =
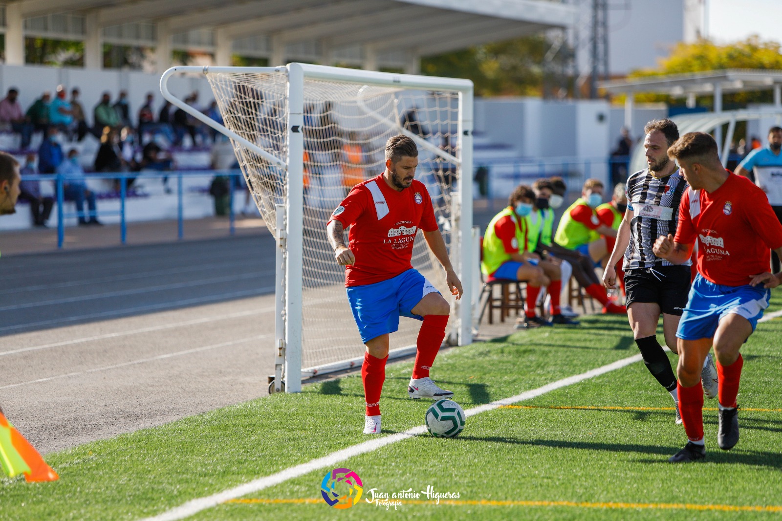
[[[209,73],[224,125],[286,165],[288,100],[286,74]],[[451,194],[457,164],[434,149],[456,156],[456,92],[422,92],[339,81],[305,79],[302,367],[361,357],[364,345],[345,293],[344,268],[336,264],[326,223],[350,188],[385,169],[386,140],[404,128],[432,145],[418,146],[416,178],[432,197],[440,231],[451,246]],[[285,203],[287,168],[277,167],[233,143],[253,199],[275,233],[275,205]],[[272,253],[270,252],[270,255]],[[422,234],[414,243],[417,268],[449,298],[445,276]],[[391,349],[414,345],[420,322],[400,318]]]

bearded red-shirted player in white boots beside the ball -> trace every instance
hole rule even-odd
[[[386,379],[389,333],[399,329],[399,318],[423,321],[418,353],[407,394],[411,398],[451,397],[429,379],[429,369],[445,338],[450,306],[411,265],[418,228],[446,271],[451,293],[461,298],[461,282],[435,219],[432,199],[414,179],[418,148],[411,138],[396,135],[386,142],[386,171],[353,187],[328,221],[328,242],[339,264],[346,266],[345,286],[353,318],[367,347],[361,380],[367,415],[364,434],[380,432],[380,393]],[[343,230],[350,226],[350,246]]]

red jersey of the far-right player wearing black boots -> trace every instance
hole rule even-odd
[[[744,286],[769,271],[770,251],[782,246],[782,225],[766,194],[747,178],[730,174],[712,193],[684,192],[677,243],[698,239],[698,272],[722,286]]]

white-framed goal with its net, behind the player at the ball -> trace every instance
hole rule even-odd
[[[223,122],[172,95],[175,74],[210,82]],[[451,299],[450,343],[472,342],[472,82],[289,63],[276,67],[176,66],[163,97],[228,136],[253,199],[277,241],[275,376],[270,391],[299,392],[308,376],[361,365],[364,345],[326,222],[352,185],[381,174],[386,140],[418,145],[416,178],[432,196],[465,293],[453,300],[425,241],[413,266]],[[271,255],[271,252],[270,252]],[[414,353],[419,322],[401,319],[389,358]]]

